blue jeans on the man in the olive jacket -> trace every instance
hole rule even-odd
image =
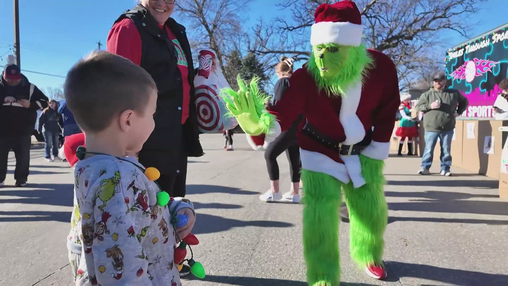
[[[430,169],[432,160],[434,159],[434,147],[436,147],[437,138],[441,144],[441,170],[449,171],[452,165],[452,149],[453,129],[442,132],[425,131],[425,151],[422,156],[422,168]]]

